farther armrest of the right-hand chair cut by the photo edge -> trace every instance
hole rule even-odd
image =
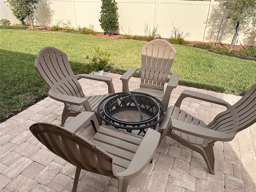
[[[180,97],[178,98],[178,100],[176,101],[176,103],[174,105],[177,107],[180,107],[182,100],[186,97],[191,97],[191,98],[200,99],[200,100],[211,102],[211,103],[216,103],[219,105],[223,105],[226,108],[229,108],[231,106],[228,102],[226,102],[220,98],[216,98],[211,95],[207,95],[204,93],[199,93],[199,92],[195,92],[195,91],[191,91],[191,90],[184,90],[180,94]]]

